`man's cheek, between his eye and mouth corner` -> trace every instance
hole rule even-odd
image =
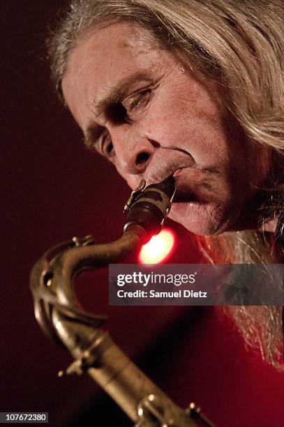
[[[149,110],[144,131],[165,148],[188,151],[203,166],[219,163],[229,155],[224,122],[217,107],[209,102],[196,105],[179,93],[163,93]]]

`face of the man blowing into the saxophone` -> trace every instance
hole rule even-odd
[[[174,174],[170,218],[196,234],[246,227],[269,153],[245,137],[218,84],[181,54],[133,24],[110,24],[80,37],[62,87],[88,146],[131,188]]]

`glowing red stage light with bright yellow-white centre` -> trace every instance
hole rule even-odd
[[[142,246],[138,255],[140,264],[159,264],[165,261],[175,248],[176,237],[170,228],[163,228],[157,235]]]

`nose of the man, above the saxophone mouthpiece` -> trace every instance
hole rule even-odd
[[[119,168],[126,174],[142,174],[154,154],[156,144],[133,132],[113,132],[114,156]]]

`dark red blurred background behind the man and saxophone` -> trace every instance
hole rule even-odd
[[[43,250],[73,235],[121,235],[126,184],[82,147],[52,97],[47,23],[63,1],[1,1],[1,396],[0,412],[50,412],[51,426],[131,423],[89,377],[57,379],[71,361],[33,318],[29,271]],[[196,262],[190,234],[176,227],[172,262]],[[212,308],[107,306],[107,271],[82,280],[80,299],[107,313],[112,336],[168,395],[191,400],[218,427],[283,426],[284,375],[246,352]]]

